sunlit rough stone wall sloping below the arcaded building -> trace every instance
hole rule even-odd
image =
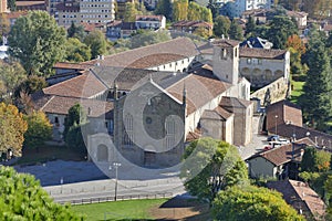
[[[289,81],[284,77],[280,77],[271,84],[256,91],[250,95],[250,98],[260,99],[260,104],[263,105],[264,98],[268,94],[270,94],[271,104],[284,99],[289,94]],[[270,93],[268,92],[270,91]]]

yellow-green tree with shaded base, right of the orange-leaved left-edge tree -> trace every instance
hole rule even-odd
[[[43,112],[33,112],[25,115],[24,119],[28,123],[28,130],[24,134],[23,146],[39,150],[39,147],[52,137],[52,125]]]

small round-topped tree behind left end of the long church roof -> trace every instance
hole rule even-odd
[[[101,31],[90,32],[85,39],[84,43],[91,49],[91,57],[96,59],[106,52],[107,41],[105,35]]]

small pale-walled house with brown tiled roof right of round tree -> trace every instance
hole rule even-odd
[[[249,157],[246,160],[249,176],[251,178],[270,177],[279,180],[288,177],[298,179],[299,167],[308,146],[315,145],[310,138],[304,137]]]

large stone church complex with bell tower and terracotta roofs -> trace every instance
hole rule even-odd
[[[81,63],[86,69],[63,63],[56,67],[60,77],[61,73],[71,74],[71,69],[81,74],[44,88],[40,106],[44,109],[50,96],[112,103],[113,118],[94,125],[112,126],[107,130],[113,133],[116,149],[102,144],[95,134],[97,127],[90,129],[87,139],[92,159],[105,165],[114,161],[115,156],[144,167],[177,165],[187,137],[191,139],[198,130],[201,136],[214,136],[207,129],[220,119],[207,118],[206,113],[226,116],[220,128],[225,133],[220,131],[218,138],[246,145],[251,139],[253,112],[249,102],[250,83],[238,76],[238,42],[216,41],[214,52],[212,70],[197,62],[197,48],[186,38]],[[62,106],[58,101],[58,106]],[[55,122],[51,112],[48,116]]]

